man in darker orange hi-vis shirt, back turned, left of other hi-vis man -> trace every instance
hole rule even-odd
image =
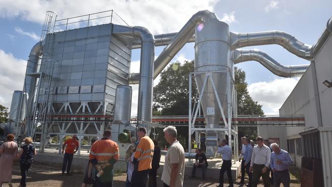
[[[103,138],[92,145],[89,160],[91,163],[98,162],[97,168],[102,169],[104,173],[97,176],[97,187],[112,187],[113,184],[113,166],[118,160],[118,146],[115,142],[111,141],[111,131],[105,130]]]

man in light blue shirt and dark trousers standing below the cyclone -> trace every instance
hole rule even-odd
[[[228,187],[233,187],[233,180],[232,180],[232,149],[228,146],[226,139],[223,139],[219,145],[218,153],[222,155],[223,164],[221,165],[220,169],[220,176],[219,176],[219,185],[218,187],[224,186],[224,173],[227,172]]]

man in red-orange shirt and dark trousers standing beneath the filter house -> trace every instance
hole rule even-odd
[[[63,157],[63,163],[62,163],[62,175],[64,175],[64,171],[66,170],[66,165],[68,162],[67,166],[67,173],[66,175],[72,176],[72,174],[69,173],[70,171],[70,166],[72,166],[72,161],[74,158],[74,154],[77,152],[78,149],[78,141],[76,140],[77,135],[74,134],[71,139],[67,139],[67,141],[62,145],[62,154],[64,151],[64,147],[67,145],[64,157]]]

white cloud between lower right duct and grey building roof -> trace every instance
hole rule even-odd
[[[298,78],[277,78],[271,82],[256,82],[248,86],[248,91],[254,101],[263,105],[265,114],[278,115],[279,108],[298,80]]]

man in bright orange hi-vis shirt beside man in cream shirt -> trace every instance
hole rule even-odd
[[[147,129],[140,127],[137,130],[139,143],[134,153],[134,172],[130,185],[133,187],[146,187],[149,170],[152,168],[154,144],[147,135]]]

